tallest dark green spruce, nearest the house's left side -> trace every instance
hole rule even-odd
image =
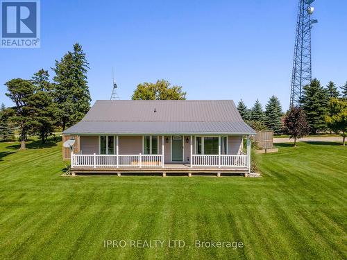
[[[54,96],[58,105],[58,125],[67,126],[81,121],[90,109],[90,92],[87,85],[88,62],[82,46],[74,44],[74,51],[68,51],[60,61],[56,60],[53,77]]]

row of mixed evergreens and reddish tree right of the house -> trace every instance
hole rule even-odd
[[[271,96],[265,110],[259,100],[248,109],[241,100],[237,105],[242,119],[255,130],[273,130],[274,135],[288,134],[296,138],[318,132],[335,132],[345,137],[347,132],[347,82],[340,87],[330,81],[326,87],[316,78],[303,87],[300,106],[287,113],[276,96]]]

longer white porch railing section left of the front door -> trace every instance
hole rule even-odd
[[[162,167],[162,155],[75,155],[71,167]]]

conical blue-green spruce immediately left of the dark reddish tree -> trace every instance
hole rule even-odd
[[[276,96],[271,96],[265,106],[264,123],[267,128],[273,130],[276,135],[282,131],[282,106]]]

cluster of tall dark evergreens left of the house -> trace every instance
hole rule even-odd
[[[40,69],[30,79],[13,78],[5,83],[6,96],[15,104],[0,108],[0,135],[9,139],[17,131],[21,149],[26,148],[28,135],[38,135],[44,143],[56,128],[65,128],[81,121],[90,109],[87,85],[88,62],[82,46],[74,44],[55,67]]]

